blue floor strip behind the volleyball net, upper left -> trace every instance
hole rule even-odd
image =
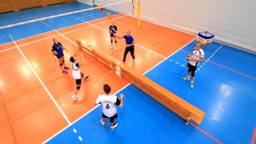
[[[87,5],[84,3],[78,3],[78,2],[71,4],[70,8],[66,4],[67,3],[63,3],[63,5],[64,5],[63,7],[58,7],[58,9],[55,10],[55,14],[63,13],[63,11],[65,11],[64,9],[76,10],[75,8],[78,8],[78,9],[92,8],[92,6],[90,6],[90,5]],[[74,6],[76,6],[76,7],[73,8]],[[55,15],[55,14],[51,13],[51,11],[53,10],[52,7],[55,7],[55,5],[44,7],[44,8],[43,7],[37,8],[37,9],[46,9],[46,11],[47,11],[47,9],[51,9],[51,10],[49,10],[49,13],[47,13],[47,14],[44,14],[44,11],[43,11],[43,14],[41,14],[40,17]],[[68,12],[70,12],[70,10]],[[25,11],[25,12],[23,12],[23,11]],[[20,10],[20,13],[22,13],[20,15],[28,15],[27,20],[28,19],[34,20],[34,19],[36,19],[34,16],[37,13],[33,14],[32,11],[35,11],[35,9]],[[74,25],[77,25],[77,24],[80,24],[83,22],[88,22],[90,20],[100,19],[100,18],[106,17],[108,12],[110,12],[111,14],[118,14],[118,13],[113,12],[108,9],[105,9],[103,12],[99,12],[98,9],[91,9],[91,10],[86,10],[84,12],[79,12],[79,13],[75,13],[75,14],[67,14],[67,15],[55,17],[52,19],[31,22],[31,23],[20,25],[20,26],[11,26],[8,28],[3,28],[3,29],[0,29],[0,44],[12,42],[12,39],[10,38],[10,36],[13,37],[13,39],[15,41],[17,41],[17,40],[20,40],[20,39],[23,39],[26,37],[32,37],[32,36],[35,36],[35,35],[38,35],[38,34],[41,34],[44,32],[51,32],[54,30],[58,30],[58,29],[67,27],[67,26],[74,26]],[[10,14],[14,14],[14,13],[16,13],[16,12],[12,12]],[[3,15],[5,15],[4,19],[8,21],[9,19],[5,18],[8,15],[0,14],[0,17],[3,17]],[[17,15],[16,19],[18,19],[18,17],[19,17],[19,15]]]

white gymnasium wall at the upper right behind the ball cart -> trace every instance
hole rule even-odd
[[[142,18],[256,51],[256,0],[141,0]]]

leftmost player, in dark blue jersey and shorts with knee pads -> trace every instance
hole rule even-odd
[[[56,38],[53,38],[53,41],[54,41],[54,44],[51,49],[52,55],[56,56],[57,59],[59,60],[62,73],[68,73],[67,71],[65,71],[65,69],[69,69],[69,67],[65,65],[65,57],[63,54],[63,51],[66,48],[63,47],[62,44]],[[66,49],[66,51],[67,51],[67,49]],[[68,51],[67,51],[67,53],[68,53]]]

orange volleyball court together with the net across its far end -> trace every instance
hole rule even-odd
[[[45,141],[96,107],[95,99],[102,92],[103,84],[108,82],[114,93],[130,83],[89,55],[82,54],[83,58],[79,59],[83,63],[81,69],[90,78],[82,84],[79,101],[73,102],[71,95],[75,83],[70,74],[61,73],[58,63],[51,56],[53,37],[68,49],[69,52],[65,53],[67,65],[69,57],[78,49],[76,40],[79,38],[121,60],[125,49],[124,41],[119,40],[117,50],[109,49],[108,26],[114,20],[119,26],[119,35],[125,35],[130,30],[131,35],[136,37],[136,63],[133,64],[131,58],[127,58],[126,64],[141,73],[148,71],[164,60],[165,56],[171,55],[194,38],[189,34],[174,37],[174,33],[183,32],[166,32],[167,28],[161,26],[157,31],[153,30],[156,25],[145,21],[142,21],[143,29],[137,29],[131,2],[102,4],[105,5],[103,12],[92,6],[90,9],[43,18],[38,16],[32,20],[1,26],[4,143]],[[111,17],[107,14],[111,14]],[[150,37],[157,32],[166,34],[160,35],[158,39]],[[172,45],[166,37],[173,37]]]

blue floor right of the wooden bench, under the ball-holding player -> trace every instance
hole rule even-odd
[[[183,50],[191,51],[194,43]],[[207,45],[206,58],[220,45]],[[177,52],[146,76],[206,112],[200,127],[218,141],[249,143],[256,124],[256,80],[208,61],[205,65],[201,63],[201,70],[195,74],[195,88],[190,89],[189,82],[182,80],[187,74],[187,69],[181,66],[187,64],[186,55],[183,51]],[[253,54],[224,45],[210,60],[255,78],[256,56]]]

